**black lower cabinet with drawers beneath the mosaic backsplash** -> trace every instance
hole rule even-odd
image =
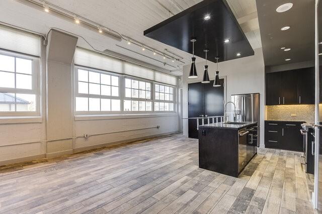
[[[265,147],[303,152],[302,123],[265,121]]]

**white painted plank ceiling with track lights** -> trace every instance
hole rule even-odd
[[[173,74],[182,75],[182,63],[167,60],[167,63],[171,66],[164,66],[162,62],[165,60],[162,56],[154,56],[152,52],[142,51],[140,47],[133,44],[128,45],[126,41],[119,42],[110,39],[74,23],[62,20],[50,13],[28,7],[19,1],[26,0],[0,1],[0,21],[43,34],[47,33],[49,28],[56,27],[84,37],[98,50],[104,51],[108,49],[157,66],[160,69],[170,70]],[[144,37],[143,31],[201,2],[201,0],[47,0],[47,2],[79,16],[86,17],[159,51],[164,52],[164,49],[167,48],[171,52],[182,56],[186,64],[190,63],[190,54]],[[227,2],[253,49],[262,47],[256,0],[227,0]],[[78,46],[90,48],[82,39],[79,39]],[[201,58],[197,59],[197,62],[200,60]]]

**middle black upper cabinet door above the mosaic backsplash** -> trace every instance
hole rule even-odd
[[[281,73],[280,103],[297,104],[297,75],[296,72],[283,71]]]

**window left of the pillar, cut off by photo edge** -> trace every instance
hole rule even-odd
[[[39,115],[39,58],[0,52],[0,115]]]

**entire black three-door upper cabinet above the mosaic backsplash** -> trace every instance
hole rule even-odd
[[[266,105],[314,104],[314,68],[266,74]]]

